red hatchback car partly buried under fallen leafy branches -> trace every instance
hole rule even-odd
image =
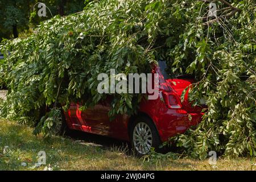
[[[168,138],[184,133],[201,121],[202,107],[192,107],[188,93],[181,103],[181,93],[192,80],[168,78],[165,69],[164,61],[152,69],[152,73],[159,73],[159,97],[142,101],[137,115],[118,115],[110,121],[112,98],[108,97],[85,111],[79,110],[79,104],[71,104],[64,111],[68,128],[130,141],[138,155],[148,154],[151,147],[158,148]]]

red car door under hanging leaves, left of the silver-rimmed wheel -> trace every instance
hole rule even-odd
[[[112,96],[107,96],[106,100],[100,101],[97,105],[84,111],[79,109],[81,104],[72,104],[69,113],[73,125],[76,129],[85,132],[129,140],[127,133],[129,117],[118,114],[112,120],[109,118],[108,113],[112,100]]]

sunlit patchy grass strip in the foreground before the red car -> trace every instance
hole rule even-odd
[[[164,159],[150,162],[126,154],[122,146],[102,147],[97,143],[76,142],[54,137],[50,142],[35,137],[30,127],[0,120],[1,170],[256,170],[255,159],[217,160],[215,167],[208,160]],[[39,151],[46,152],[46,165],[36,167]],[[22,166],[26,163],[26,166]]]

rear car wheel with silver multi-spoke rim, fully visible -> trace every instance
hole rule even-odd
[[[135,119],[130,130],[130,141],[137,156],[148,154],[152,147],[158,151],[161,144],[154,123],[147,117],[138,117]]]

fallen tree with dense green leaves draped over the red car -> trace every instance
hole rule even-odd
[[[177,136],[178,146],[199,158],[211,150],[256,155],[256,4],[214,3],[216,16],[208,15],[209,1],[93,1],[3,43],[1,52],[10,55],[1,65],[9,85],[2,116],[36,123],[35,133],[47,134],[60,106],[84,99],[86,108],[106,97],[97,92],[99,73],[145,73],[164,59],[170,72],[195,75],[195,105],[207,98],[203,121]],[[134,114],[142,97],[115,94],[110,116]]]

